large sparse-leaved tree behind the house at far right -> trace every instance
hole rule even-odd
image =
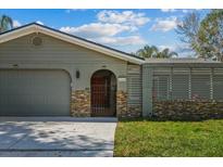
[[[223,10],[211,10],[203,20],[197,13],[189,13],[177,25],[176,33],[198,57],[223,62]]]

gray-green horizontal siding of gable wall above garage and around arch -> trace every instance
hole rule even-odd
[[[44,43],[34,47],[30,43],[35,34],[24,36],[0,44],[0,68],[65,68],[69,69],[73,89],[90,89],[91,75],[98,69],[109,69],[116,78],[126,76],[127,62],[89,49],[69,43],[53,37],[39,34]],[[80,72],[80,78],[75,72]],[[117,89],[126,90],[126,82],[117,84]]]

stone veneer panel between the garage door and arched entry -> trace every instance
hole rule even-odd
[[[75,90],[72,92],[71,115],[74,117],[90,116],[90,91]]]

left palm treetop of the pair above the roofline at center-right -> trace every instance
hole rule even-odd
[[[158,48],[154,46],[145,46],[136,52],[136,55],[140,57],[156,57],[158,54]]]

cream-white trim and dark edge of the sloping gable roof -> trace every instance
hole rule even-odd
[[[135,64],[143,64],[145,62],[144,59],[141,57],[137,57],[133,54],[71,35],[71,34],[66,34],[63,31],[60,31],[58,29],[38,24],[36,22],[26,24],[24,26],[4,31],[2,34],[0,34],[0,43],[33,34],[33,33],[42,33],[45,35],[49,35],[51,37],[61,39],[63,41],[66,42],[71,42],[77,46],[80,46],[83,48],[87,48],[97,52],[101,52],[103,54],[120,59],[120,60],[124,60],[131,63],[135,63]]]

